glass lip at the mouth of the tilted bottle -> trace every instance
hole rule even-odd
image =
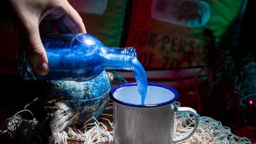
[[[132,60],[137,58],[137,52],[133,47],[125,47],[123,50],[123,66],[125,70],[133,70]]]

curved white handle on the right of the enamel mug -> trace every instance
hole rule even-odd
[[[183,140],[186,140],[188,138],[190,138],[197,130],[198,124],[199,124],[199,115],[196,113],[196,110],[194,110],[193,108],[189,108],[189,107],[175,107],[174,106],[174,111],[175,112],[190,112],[191,114],[193,114],[195,116],[195,127],[192,131],[190,131],[188,134],[183,135],[182,137],[179,138],[172,138],[173,142],[180,142]]]

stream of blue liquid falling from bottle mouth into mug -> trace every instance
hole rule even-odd
[[[132,59],[132,69],[133,75],[138,85],[138,90],[141,97],[141,105],[144,105],[148,87],[147,74],[137,58]]]

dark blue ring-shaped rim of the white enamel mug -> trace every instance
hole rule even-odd
[[[169,105],[170,103],[176,101],[179,98],[179,92],[177,90],[175,90],[173,87],[167,86],[167,85],[164,85],[164,84],[159,84],[159,83],[152,83],[152,82],[148,82],[148,85],[163,87],[167,90],[170,90],[171,92],[173,92],[174,97],[169,101],[165,101],[165,102],[162,102],[162,103],[157,103],[157,104],[154,104],[154,105],[138,105],[138,104],[133,104],[133,103],[127,103],[127,102],[119,101],[114,97],[114,93],[118,89],[120,89],[122,87],[127,87],[127,86],[134,86],[134,85],[137,85],[137,83],[125,83],[125,84],[121,84],[121,85],[117,85],[117,86],[113,87],[109,91],[109,98],[114,102],[117,102],[117,103],[120,103],[120,104],[126,105],[126,106],[131,106],[131,107],[159,107],[159,106]]]

